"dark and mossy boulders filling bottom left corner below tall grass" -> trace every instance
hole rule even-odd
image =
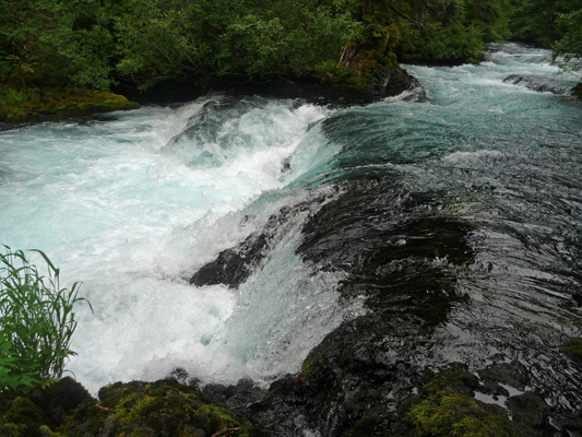
[[[250,427],[174,379],[116,382],[99,399],[71,378],[26,395],[0,393],[0,437],[248,436]]]

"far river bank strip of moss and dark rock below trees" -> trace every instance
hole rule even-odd
[[[259,95],[271,98],[302,98],[314,104],[363,105],[403,92],[417,93],[421,86],[403,68],[390,67],[377,71],[365,87],[326,85],[316,79],[273,79],[264,82],[217,81],[212,90],[187,83],[166,82],[147,93],[135,87],[119,86],[115,92],[97,92],[75,87],[31,88],[5,91],[0,106],[0,122],[5,126],[23,122],[59,121],[115,110],[136,109],[142,105],[179,104],[205,94]],[[116,94],[120,93],[120,94]],[[121,95],[123,94],[123,95]],[[128,97],[129,96],[129,99]]]

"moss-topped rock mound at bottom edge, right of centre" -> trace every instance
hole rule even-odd
[[[426,383],[405,420],[418,436],[431,437],[509,437],[514,436],[511,422],[491,405],[477,401],[463,379],[471,375],[462,369],[436,375]]]

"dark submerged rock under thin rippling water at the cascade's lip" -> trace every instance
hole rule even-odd
[[[344,298],[364,297],[377,315],[419,316],[436,326],[464,299],[455,273],[472,258],[471,226],[439,209],[439,200],[390,178],[353,180],[307,221],[298,252],[318,269],[347,273]]]

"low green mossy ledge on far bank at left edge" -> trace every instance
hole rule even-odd
[[[58,120],[140,107],[118,94],[71,86],[4,90],[0,97],[0,120],[5,121]]]

